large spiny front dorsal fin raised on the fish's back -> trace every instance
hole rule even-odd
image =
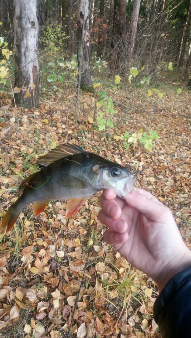
[[[76,146],[75,144],[65,143],[56,147],[55,149],[52,149],[46,155],[40,156],[37,164],[39,167],[46,167],[49,164],[62,159],[63,157],[85,152],[86,150]]]

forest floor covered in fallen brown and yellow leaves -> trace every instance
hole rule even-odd
[[[140,89],[111,92],[115,128],[103,131],[90,123],[95,106],[91,93],[81,93],[77,128],[76,91],[70,88],[42,98],[40,107],[30,110],[15,109],[10,96],[2,95],[1,218],[17,199],[23,178],[38,170],[38,156],[70,142],[128,166],[136,175],[135,186],[170,208],[191,248],[191,94],[185,89],[175,95],[167,85],[163,92],[162,99],[154,95],[141,100]],[[139,144],[125,150],[120,136],[140,128],[158,131],[153,149]],[[157,286],[103,242],[105,227],[97,221],[99,194],[90,196],[69,220],[63,217],[65,201],[51,201],[37,218],[29,205],[11,232],[1,235],[0,336],[66,337],[91,246],[70,337],[161,337],[152,318]]]

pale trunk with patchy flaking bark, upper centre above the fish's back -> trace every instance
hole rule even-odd
[[[77,3],[77,63],[81,87],[92,86],[90,75],[89,0]]]

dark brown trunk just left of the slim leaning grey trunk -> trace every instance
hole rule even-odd
[[[113,52],[110,57],[110,67],[113,73],[122,74],[126,55],[126,1],[114,1],[113,39],[111,42]]]

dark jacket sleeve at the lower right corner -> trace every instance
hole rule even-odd
[[[166,284],[155,301],[153,317],[162,338],[191,338],[191,266]]]

